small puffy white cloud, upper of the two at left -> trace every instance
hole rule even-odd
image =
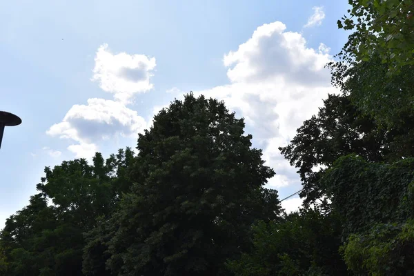
[[[116,100],[128,103],[135,93],[153,88],[150,77],[155,66],[155,57],[126,52],[113,55],[103,44],[97,50],[92,81],[99,81],[102,90],[115,94]]]

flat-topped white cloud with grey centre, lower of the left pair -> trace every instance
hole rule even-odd
[[[106,99],[88,99],[87,105],[74,105],[63,120],[51,126],[48,135],[71,139],[77,145],[68,147],[77,157],[87,157],[97,151],[96,142],[121,135],[137,134],[146,128],[146,121],[124,103]]]

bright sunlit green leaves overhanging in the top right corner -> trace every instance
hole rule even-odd
[[[393,71],[414,65],[413,0],[348,0],[348,16],[338,20],[338,28],[355,30],[342,53],[357,61],[380,55]],[[349,61],[349,59],[348,59]]]

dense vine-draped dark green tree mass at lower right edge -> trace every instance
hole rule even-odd
[[[342,253],[357,275],[414,272],[414,159],[339,158],[322,178],[342,219]]]

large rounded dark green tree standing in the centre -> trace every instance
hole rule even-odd
[[[112,217],[111,272],[226,275],[226,259],[250,247],[250,225],[280,208],[251,138],[215,99],[191,93],[161,110],[139,135],[132,193]]]

